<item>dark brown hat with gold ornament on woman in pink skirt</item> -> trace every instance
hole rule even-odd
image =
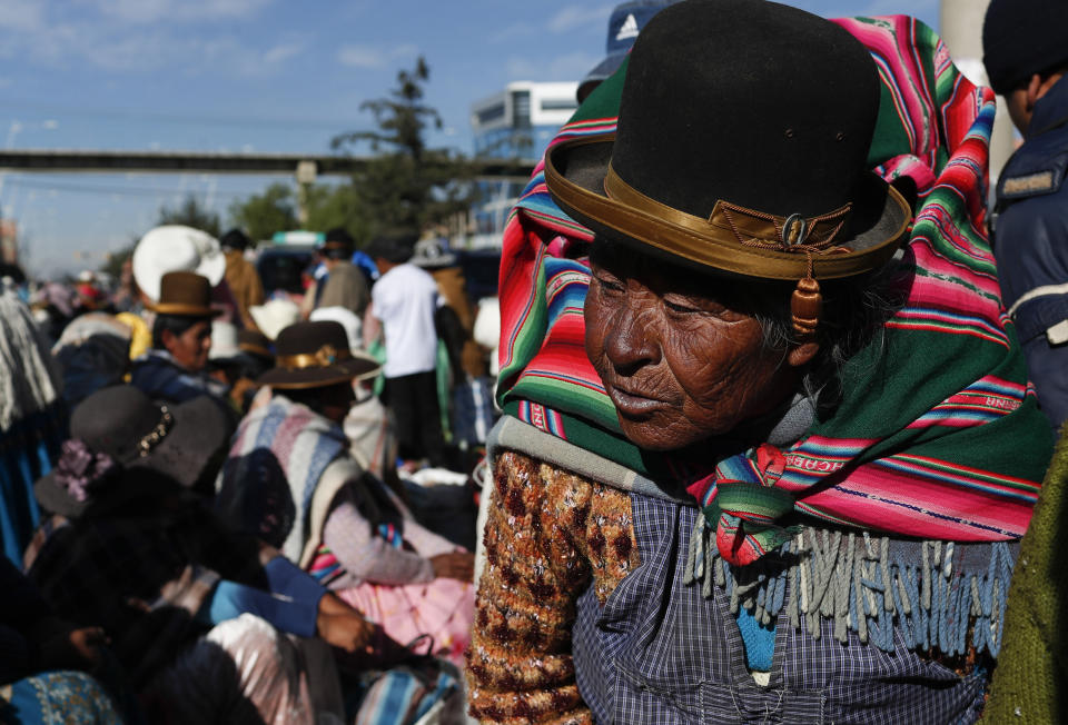
[[[280,389],[322,388],[378,375],[378,360],[353,352],[345,328],[334,321],[297,322],[275,340],[275,367],[256,380]]]

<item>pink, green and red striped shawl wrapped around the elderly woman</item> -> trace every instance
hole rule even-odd
[[[846,364],[830,417],[781,451],[764,445],[710,461],[715,473],[690,486],[734,564],[785,540],[774,525],[783,509],[924,539],[1018,538],[1051,451],[985,231],[993,93],[960,75],[919,21],[835,22],[871,50],[883,83],[869,163],[919,192],[904,257],[914,281],[881,345]],[[553,142],[614,130],[622,78],[599,87]],[[655,477],[665,461],[621,435],[585,356],[589,269],[566,257],[591,238],[535,169],[504,234],[500,400],[508,415]]]

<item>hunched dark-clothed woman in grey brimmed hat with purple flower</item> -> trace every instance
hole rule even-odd
[[[319,712],[343,712],[339,686],[309,699],[324,692],[309,691],[305,665],[322,643],[285,633],[350,653],[373,647],[386,662],[398,648],[190,494],[215,478],[226,431],[206,397],[160,406],[130,386],[88,397],[56,468],[34,487],[52,516],[27,570],[58,615],[103,628],[129,685],[174,722],[196,722],[202,708],[226,722],[318,722]],[[324,672],[329,683],[333,671]]]

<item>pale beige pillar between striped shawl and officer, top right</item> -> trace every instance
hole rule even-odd
[[[942,0],[941,36],[953,57],[953,63],[973,83],[989,86],[982,66],[982,19],[990,0]],[[998,97],[998,112],[990,137],[990,199],[1005,162],[1016,149],[1015,129],[1005,99]]]

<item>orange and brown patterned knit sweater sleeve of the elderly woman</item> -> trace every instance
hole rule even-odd
[[[624,491],[517,453],[497,457],[486,568],[467,652],[471,714],[493,723],[592,723],[575,684],[571,627],[639,565]]]

